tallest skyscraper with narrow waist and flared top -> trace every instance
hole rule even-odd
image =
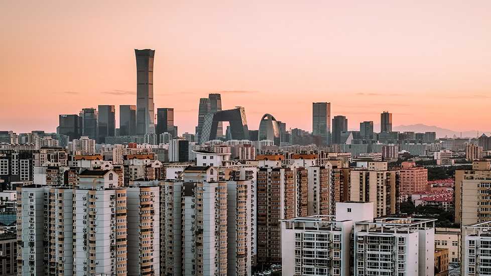
[[[137,58],[137,134],[155,133],[154,123],[155,50],[135,49]]]

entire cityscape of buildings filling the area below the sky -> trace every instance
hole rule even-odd
[[[491,137],[394,131],[388,111],[353,130],[330,102],[312,131],[250,129],[219,93],[179,135],[155,51],[135,56],[136,105],[0,131],[0,275],[488,274]]]

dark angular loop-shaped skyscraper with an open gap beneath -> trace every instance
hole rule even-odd
[[[235,140],[248,140],[249,128],[247,126],[246,110],[243,107],[222,110],[215,113],[209,113],[204,117],[203,127],[199,134],[200,144],[217,138],[216,133],[219,122],[230,122],[230,134]]]

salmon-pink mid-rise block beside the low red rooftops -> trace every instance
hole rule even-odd
[[[411,195],[426,191],[428,186],[428,169],[416,167],[415,162],[403,162],[400,171],[400,193]]]

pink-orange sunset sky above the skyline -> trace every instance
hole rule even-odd
[[[156,50],[155,107],[193,132],[200,97],[312,129],[331,102],[350,129],[491,129],[491,1],[0,2],[0,130],[55,131],[59,114],[136,104],[134,49]],[[116,119],[116,126],[118,120]]]

